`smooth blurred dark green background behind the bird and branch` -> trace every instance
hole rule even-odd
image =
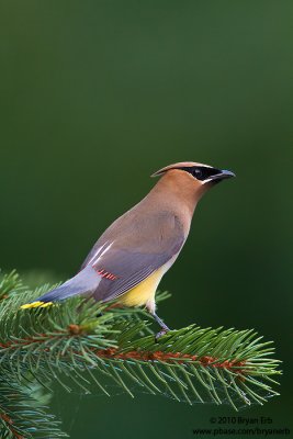
[[[292,1],[0,5],[0,266],[64,280],[155,170],[234,170],[201,201],[159,314],[274,340],[281,397],[243,416],[275,428],[292,404]],[[64,393],[55,413],[74,439],[191,438],[212,415],[235,415]]]

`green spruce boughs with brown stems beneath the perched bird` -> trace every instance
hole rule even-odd
[[[3,291],[13,291],[0,302],[0,378],[12,378],[26,408],[30,401],[22,392],[27,376],[30,385],[54,379],[67,391],[78,385],[90,393],[95,383],[110,396],[112,383],[131,396],[140,390],[189,404],[227,403],[235,409],[278,395],[271,376],[281,372],[279,361],[271,358],[272,344],[252,330],[191,325],[167,333],[157,342],[149,315],[137,308],[74,297],[47,308],[20,309],[49,286],[27,291],[13,275],[14,283],[9,275],[0,283]],[[11,413],[14,391],[7,392],[10,405],[3,404],[2,409],[0,403],[0,421],[12,435],[7,437],[20,438],[21,423],[30,425],[31,418],[25,410],[18,416]],[[43,430],[52,427],[48,415],[43,415],[42,425]],[[35,434],[27,430],[31,436],[23,437],[42,437],[37,436],[42,428]],[[60,435],[56,425],[56,437]]]

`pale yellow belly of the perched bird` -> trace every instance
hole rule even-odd
[[[165,271],[161,267],[138,285],[121,295],[117,302],[126,306],[142,306],[147,302],[155,301],[156,290]]]

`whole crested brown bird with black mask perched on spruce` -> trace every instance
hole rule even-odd
[[[160,326],[157,339],[170,330],[156,313],[157,288],[182,250],[202,195],[235,173],[181,161],[150,177],[159,177],[158,182],[105,229],[80,271],[21,308],[46,307],[84,295],[102,303],[115,301],[123,306],[145,306]]]

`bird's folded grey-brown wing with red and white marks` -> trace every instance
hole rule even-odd
[[[132,226],[123,228],[121,224],[113,224],[82,266],[91,264],[103,277],[93,294],[97,301],[111,301],[136,286],[176,256],[184,244],[182,225],[170,213],[135,218],[127,224]]]

